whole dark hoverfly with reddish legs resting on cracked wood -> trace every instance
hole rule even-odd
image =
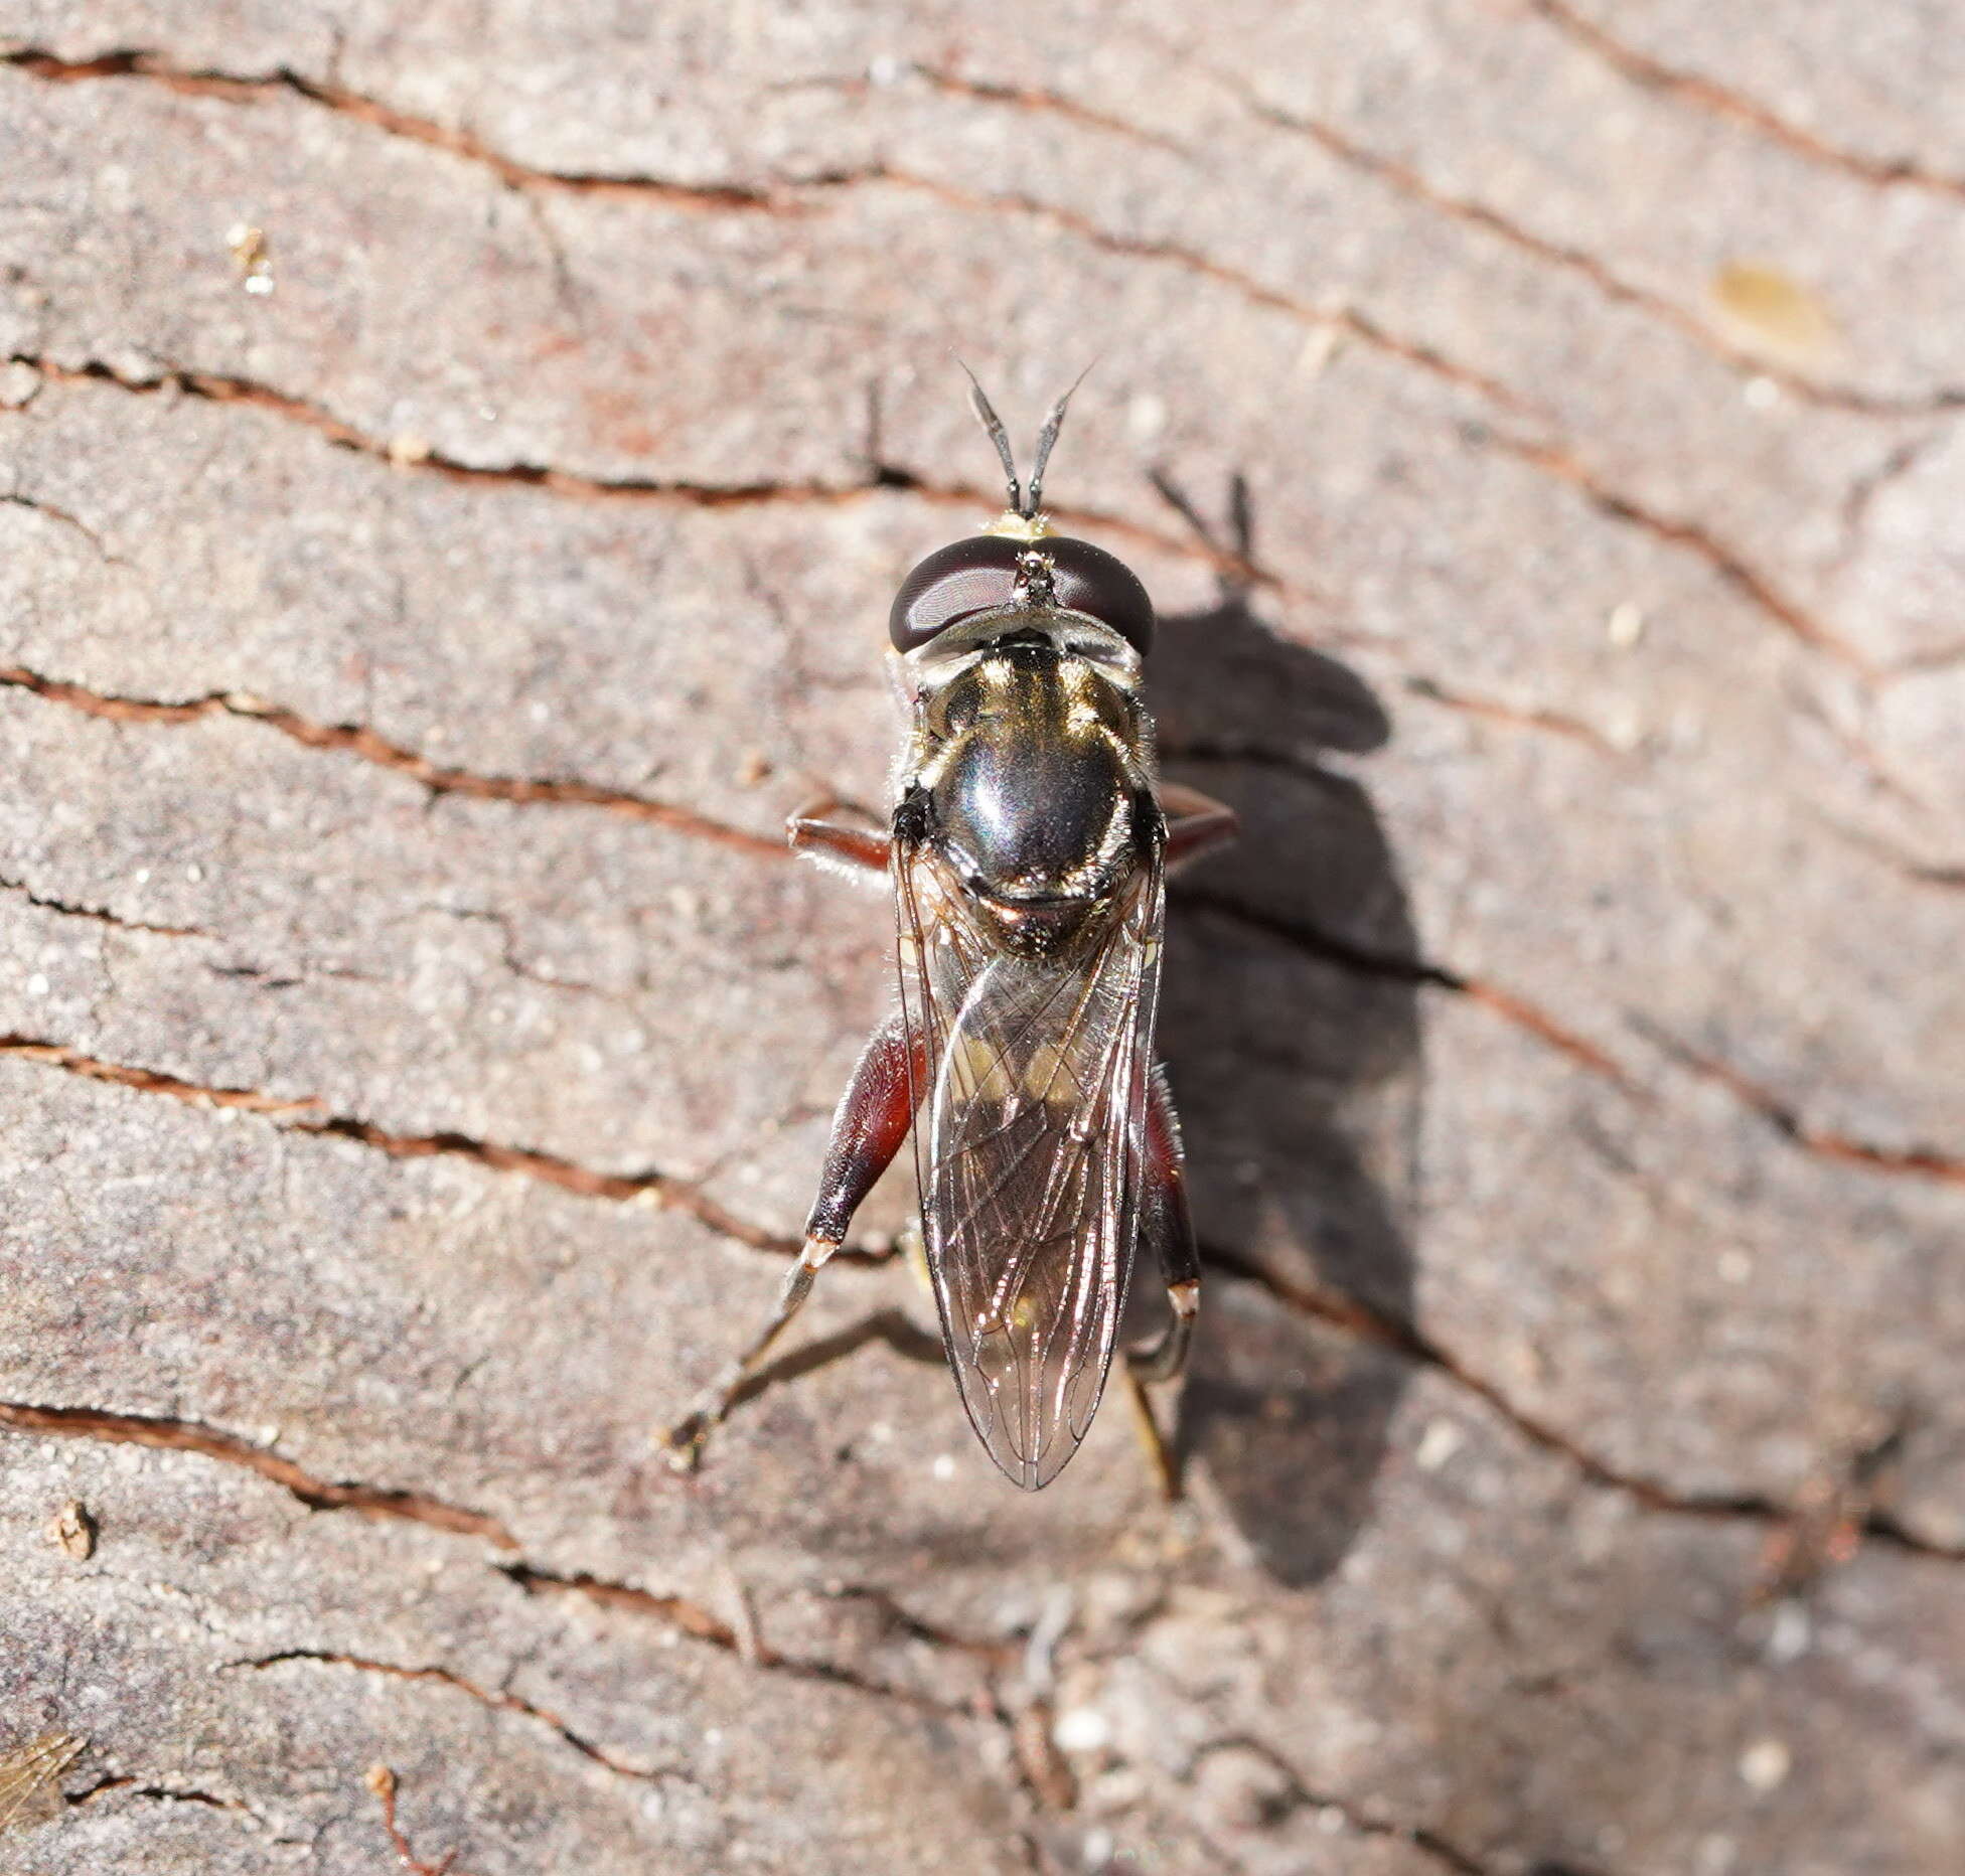
[[[1112,554],[1053,532],[1045,416],[1028,489],[971,375],[1010,507],[929,554],[888,619],[906,713],[888,827],[814,803],[788,825],[815,858],[884,872],[900,1004],[839,1112],[804,1249],[764,1332],[668,1436],[694,1463],[755,1365],[914,1133],[922,1236],[949,1367],[988,1456],[1034,1491],[1085,1438],[1136,1251],[1171,1322],[1130,1350],[1179,1373],[1201,1302],[1179,1124],[1153,1069],[1165,876],[1230,839],[1232,809],[1155,772],[1140,697],[1153,603]]]

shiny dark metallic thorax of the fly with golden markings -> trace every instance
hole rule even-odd
[[[1006,951],[1069,947],[1159,839],[1138,654],[1083,613],[1014,605],[900,664],[898,813]]]

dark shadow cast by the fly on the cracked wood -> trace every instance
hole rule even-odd
[[[1240,479],[1234,519],[1246,564]],[[1364,1522],[1411,1373],[1305,1306],[1350,1300],[1389,1324],[1413,1308],[1417,945],[1372,800],[1326,762],[1379,748],[1391,725],[1362,678],[1279,638],[1234,579],[1159,621],[1148,686],[1165,772],[1242,815],[1238,845],[1169,892],[1159,1053],[1208,1271],[1173,1446],[1258,1562],[1305,1585]]]

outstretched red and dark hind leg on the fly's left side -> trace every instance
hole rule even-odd
[[[764,1328],[753,1336],[733,1361],[705,1389],[703,1397],[666,1434],[662,1446],[672,1463],[694,1471],[711,1430],[723,1422],[743,1397],[757,1365],[798,1314],[812,1281],[825,1261],[845,1243],[853,1214],[888,1169],[914,1120],[914,1086],[920,1075],[920,1047],[910,1045],[906,1023],[896,1012],[878,1029],[853,1069],[853,1080],[833,1116],[833,1137],[825,1149],[819,1175],[819,1196],[806,1220],[806,1241],[798,1261],[786,1271],[778,1306]]]

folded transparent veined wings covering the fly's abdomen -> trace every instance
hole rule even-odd
[[[1034,1491],[1091,1426],[1126,1298],[1159,860],[1061,957],[990,945],[931,849],[896,853],[894,876],[929,1075],[914,1151],[941,1334],[990,1458]]]

